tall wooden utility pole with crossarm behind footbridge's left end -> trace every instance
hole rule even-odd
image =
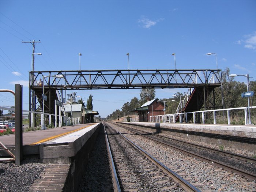
[[[30,43],[31,45],[33,45],[33,53],[32,53],[32,70],[31,71],[35,71],[35,43],[41,43],[41,41],[22,41],[22,43]],[[32,94],[31,94],[31,89],[30,89],[30,86],[31,86],[31,83],[34,82],[34,75],[30,75],[29,76],[29,110],[30,111],[35,111],[36,110],[36,105],[35,105],[35,93],[34,93],[34,90],[32,91]],[[44,82],[43,82],[44,83]],[[34,113],[31,113],[30,115],[30,121],[29,121],[29,126],[31,128],[34,128],[35,125],[34,125],[34,122],[35,122],[35,117],[34,117]]]

